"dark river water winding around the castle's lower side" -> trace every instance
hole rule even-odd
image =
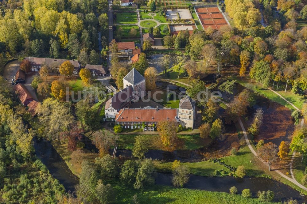
[[[87,144],[89,145],[89,144]],[[92,146],[88,146],[92,147]],[[51,175],[58,179],[59,182],[65,187],[66,191],[74,191],[76,184],[79,184],[78,177],[73,175],[69,170],[65,161],[60,157],[60,155],[53,148],[51,142],[41,139],[34,139],[35,154],[41,159],[43,164],[47,166]],[[121,151],[118,154],[123,153]],[[130,152],[129,152],[130,154]],[[163,158],[165,154],[164,151],[160,150],[150,150],[146,156],[154,156]],[[168,153],[165,158],[176,159],[175,153]],[[160,156],[159,156],[160,155]],[[167,185],[171,186],[172,174],[169,173],[157,173],[155,178],[157,185]],[[306,202],[306,198],[299,195],[299,192],[292,189],[291,187],[283,184],[279,181],[268,179],[268,178],[243,178],[238,179],[231,176],[226,177],[205,177],[205,176],[195,176],[191,175],[189,182],[185,184],[185,188],[199,189],[206,191],[220,191],[229,192],[229,188],[235,186],[238,188],[239,193],[245,189],[249,188],[253,194],[256,195],[258,191],[273,191],[275,194],[274,201],[284,201],[286,198],[297,199],[300,203]]]

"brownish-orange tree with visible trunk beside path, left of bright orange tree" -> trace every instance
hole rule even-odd
[[[272,142],[268,142],[258,149],[257,155],[267,162],[269,171],[271,171],[271,164],[277,161],[277,152],[277,146]]]

